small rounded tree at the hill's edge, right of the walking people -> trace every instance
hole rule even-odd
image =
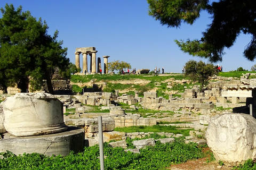
[[[209,83],[209,78],[215,74],[216,69],[213,64],[205,64],[202,61],[196,62],[194,60],[189,60],[185,64],[185,77],[189,77],[193,81],[201,83],[201,91],[207,83]]]

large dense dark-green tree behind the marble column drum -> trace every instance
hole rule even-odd
[[[66,72],[69,65],[67,48],[57,41],[58,31],[53,37],[48,35],[46,22],[41,18],[37,21],[29,11],[22,12],[21,6],[15,10],[12,4],[6,4],[1,12],[0,88],[6,91],[7,87],[17,85],[21,92],[26,92],[30,82],[30,90],[38,90],[46,79],[53,94],[51,69],[59,67]]]

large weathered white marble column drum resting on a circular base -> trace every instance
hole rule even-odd
[[[3,112],[6,131],[18,137],[67,130],[62,103],[51,94],[15,94],[5,100]]]

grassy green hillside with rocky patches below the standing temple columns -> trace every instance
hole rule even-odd
[[[243,74],[256,73],[250,71],[231,71],[231,72],[219,72],[218,76],[233,77],[239,79]],[[249,78],[255,78],[255,75],[251,75]],[[142,83],[135,83],[135,80],[140,79]],[[70,81],[73,82],[73,91],[82,92],[83,88],[91,88],[90,86],[81,86],[81,84],[90,83],[93,80],[96,84],[105,83],[106,86],[100,90],[104,92],[115,92],[119,90],[120,94],[126,93],[128,95],[134,95],[134,91],[139,91],[139,96],[143,96],[145,91],[156,91],[158,96],[168,98],[170,94],[179,96],[180,92],[184,92],[185,88],[191,88],[196,82],[192,83],[188,77],[181,74],[159,74],[153,76],[150,74],[142,75],[110,75],[110,74],[92,74],[92,75],[72,75]],[[146,83],[143,83],[145,81]],[[168,88],[168,84],[172,88]]]

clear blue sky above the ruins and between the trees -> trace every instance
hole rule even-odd
[[[165,67],[165,72],[181,73],[189,60],[207,63],[203,58],[183,53],[174,43],[175,39],[201,38],[211,23],[205,12],[193,25],[182,24],[176,29],[167,28],[149,16],[146,0],[1,0],[0,7],[4,8],[6,3],[15,8],[21,5],[22,11],[30,11],[37,19],[41,17],[51,36],[58,30],[58,40],[63,40],[62,47],[68,48],[67,57],[72,63],[78,47],[95,47],[102,63],[102,56],[108,55],[109,62],[124,61],[137,70]],[[234,46],[225,50],[223,61],[214,64],[222,65],[223,71],[241,66],[250,71],[256,63],[243,57],[250,39],[250,35],[241,34]]]

